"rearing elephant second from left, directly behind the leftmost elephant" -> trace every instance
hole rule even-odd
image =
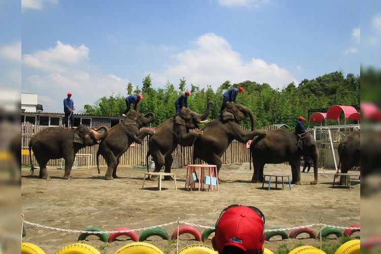
[[[109,135],[101,141],[97,151],[97,168],[99,171],[99,155],[105,158],[107,164],[106,180],[118,178],[116,168],[119,164],[120,156],[129,149],[133,142],[141,144],[147,135],[152,135],[155,131],[150,129],[142,129],[155,120],[153,113],[145,115],[140,114],[136,110],[132,110],[122,122],[113,126]]]

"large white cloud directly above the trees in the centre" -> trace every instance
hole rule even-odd
[[[216,89],[225,81],[239,83],[245,80],[268,83],[273,88],[281,88],[291,82],[298,83],[288,70],[275,63],[252,58],[243,62],[240,54],[232,49],[223,37],[213,33],[205,34],[194,42],[192,49],[173,56],[175,65],[162,73],[147,72],[153,80],[165,84],[169,80],[185,77],[187,84],[211,85]]]

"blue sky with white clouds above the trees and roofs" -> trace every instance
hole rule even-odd
[[[0,53],[22,70],[7,72],[3,86],[18,80],[45,112],[61,112],[68,91],[79,111],[103,96],[126,96],[129,82],[141,88],[148,74],[154,88],[167,80],[178,88],[185,78],[187,88],[214,90],[227,80],[282,89],[334,71],[359,75],[364,57],[379,65],[372,49],[381,12],[373,2],[381,1],[368,1],[370,15],[361,15],[360,0],[22,0],[21,17],[3,13],[21,22],[21,33],[1,39]]]

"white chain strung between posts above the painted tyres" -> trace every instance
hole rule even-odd
[[[34,227],[39,227],[39,228],[45,228],[49,230],[55,230],[55,231],[62,231],[62,232],[70,232],[70,233],[87,233],[87,234],[94,234],[94,232],[97,232],[98,234],[113,234],[113,233],[127,233],[127,232],[139,232],[142,230],[148,230],[148,229],[154,229],[157,227],[167,227],[173,224],[185,224],[193,227],[199,227],[199,228],[205,228],[205,229],[215,229],[214,227],[209,227],[209,226],[203,226],[199,224],[193,224],[193,223],[187,223],[186,221],[172,221],[170,223],[165,223],[162,225],[157,225],[157,226],[151,226],[151,227],[146,227],[146,228],[141,228],[141,229],[131,229],[131,230],[121,230],[121,231],[82,231],[82,230],[71,230],[71,229],[59,229],[59,228],[53,228],[49,226],[44,226],[36,223],[30,223],[26,220],[24,220],[25,224],[28,224],[30,226]],[[284,229],[267,229],[265,232],[277,232],[277,231],[292,231],[300,228],[312,228],[314,226],[324,226],[324,227],[330,227],[330,228],[338,228],[342,230],[346,229],[359,229],[360,227],[339,227],[339,226],[332,226],[332,225],[327,225],[327,224],[311,224],[311,225],[306,225],[306,226],[301,226],[301,227],[293,227],[293,228],[284,228]]]

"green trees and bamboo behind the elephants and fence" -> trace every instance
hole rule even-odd
[[[178,87],[167,80],[163,87],[152,88],[150,74],[143,81],[141,88],[130,82],[126,87],[127,94],[112,94],[110,97],[98,99],[93,106],[85,105],[83,114],[99,116],[120,116],[125,109],[125,97],[130,94],[143,94],[139,103],[139,112],[153,112],[156,120],[152,123],[157,126],[166,119],[175,115],[176,99],[189,90],[192,95],[188,97],[189,108],[197,113],[203,113],[208,101],[214,103],[210,119],[219,115],[223,93],[232,87],[244,87],[245,91],[237,96],[237,103],[248,107],[256,119],[256,128],[285,123],[294,126],[297,117],[303,115],[307,118],[309,109],[329,108],[332,105],[360,105],[360,76],[336,71],[315,79],[304,79],[300,84],[294,82],[285,85],[282,89],[274,89],[268,83],[259,84],[255,81],[243,81],[232,84],[226,81],[216,91],[210,85],[200,88],[198,85],[186,84],[185,78],[179,80]],[[249,119],[241,125],[250,128]]]

